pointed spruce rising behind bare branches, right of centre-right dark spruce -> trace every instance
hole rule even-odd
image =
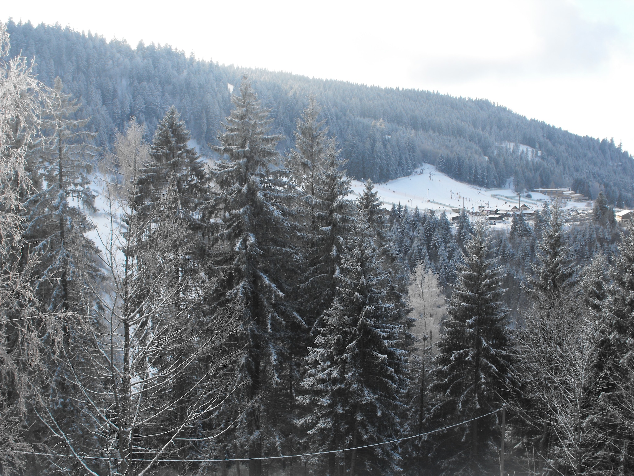
[[[524,326],[517,332],[515,346],[515,374],[521,387],[514,411],[522,416],[523,422],[515,425],[517,437],[531,443],[531,454],[527,457],[532,457],[534,449],[540,459],[536,464],[542,466],[548,465],[553,456],[552,447],[559,445],[558,409],[552,405],[552,391],[568,385],[563,380],[569,378],[566,373],[556,371],[561,362],[558,349],[563,345],[568,354],[575,352],[564,343],[574,346],[571,329],[581,330],[584,326],[579,298],[573,289],[575,269],[559,208],[553,208],[549,215],[533,264],[533,275],[528,277],[531,287],[527,291],[532,303],[522,312]],[[562,381],[553,380],[558,376]]]

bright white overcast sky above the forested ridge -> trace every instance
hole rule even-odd
[[[634,0],[3,1],[136,46],[355,83],[488,98],[634,152]]]

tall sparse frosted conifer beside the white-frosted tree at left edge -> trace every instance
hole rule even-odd
[[[60,352],[46,355],[51,378],[42,383],[48,400],[32,409],[30,431],[63,454],[68,441],[85,438],[93,430],[93,422],[84,419],[86,399],[74,384],[75,376],[82,385],[98,386],[84,359],[94,350],[86,336],[100,325],[98,251],[86,237],[92,228],[87,212],[94,210],[88,173],[97,149],[94,135],[86,131],[88,120],[77,119],[79,104],[63,92],[59,78],[47,95],[39,133],[28,150],[33,188],[23,202],[27,221],[23,237],[26,253],[36,252],[39,258],[32,275],[37,307],[41,314],[56,314],[63,338]],[[53,350],[48,334],[42,335],[42,341]],[[91,447],[98,445],[94,439],[86,441]],[[56,464],[68,470],[82,467],[61,457]]]

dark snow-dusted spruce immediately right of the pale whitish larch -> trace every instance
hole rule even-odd
[[[465,246],[464,263],[447,301],[448,319],[432,361],[436,393],[430,420],[458,423],[499,409],[510,382],[507,308],[502,301],[503,274],[489,259],[490,238],[483,221]],[[432,437],[432,459],[444,474],[481,474],[497,464],[500,426],[496,414]]]

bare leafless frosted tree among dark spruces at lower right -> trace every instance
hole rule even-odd
[[[579,301],[569,293],[552,308],[533,303],[517,331],[514,438],[540,472],[581,475],[602,459],[596,447],[605,434],[592,425],[588,399],[596,381],[593,325]]]

